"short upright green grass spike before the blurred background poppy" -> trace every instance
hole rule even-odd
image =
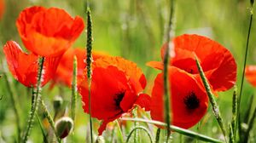
[[[78,60],[77,56],[73,58],[73,81],[72,81],[72,96],[71,96],[71,117],[73,119],[73,123],[75,123],[76,119],[76,108],[77,108],[77,75],[78,75]],[[75,125],[74,125],[75,127]],[[74,131],[74,128],[73,128]]]

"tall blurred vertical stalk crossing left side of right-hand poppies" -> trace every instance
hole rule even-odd
[[[167,137],[166,137],[166,142],[169,140],[169,136],[171,134],[171,129],[169,129],[171,125],[171,99],[170,99],[170,93],[169,93],[169,84],[168,83],[168,66],[169,66],[169,53],[171,51],[171,42],[170,38],[172,37],[172,19],[173,19],[173,13],[174,13],[174,0],[171,0],[171,6],[170,6],[170,18],[169,18],[169,23],[168,23],[168,29],[167,29],[167,35],[166,35],[166,41],[167,41],[167,49],[165,51],[164,55],[164,109],[165,109],[165,122],[167,123]]]

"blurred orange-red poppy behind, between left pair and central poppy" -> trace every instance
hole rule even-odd
[[[102,57],[105,54],[102,53],[93,53],[93,59],[96,60]],[[68,87],[72,85],[72,78],[73,78],[73,58],[74,56],[77,57],[78,63],[78,84],[81,82],[83,78],[83,72],[86,64],[84,63],[84,58],[86,56],[85,49],[67,49],[65,54],[62,55],[61,61],[57,67],[55,72],[55,76],[53,77],[53,85],[55,83],[65,84]],[[52,85],[52,86],[53,86]]]

